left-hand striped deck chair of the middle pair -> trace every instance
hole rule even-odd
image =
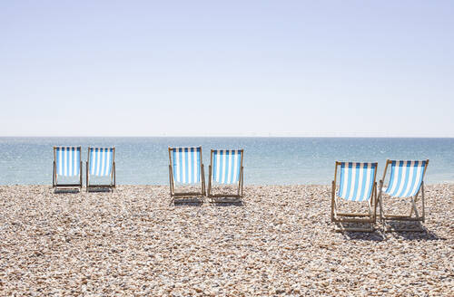
[[[178,197],[205,196],[205,175],[203,173],[202,147],[169,148],[169,179],[172,202]],[[175,186],[196,185],[200,191],[175,192]],[[171,202],[171,203],[172,203]]]

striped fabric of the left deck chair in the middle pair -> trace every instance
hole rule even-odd
[[[201,181],[201,148],[173,149],[173,179],[177,183],[194,184]]]

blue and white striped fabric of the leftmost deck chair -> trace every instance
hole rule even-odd
[[[81,170],[81,148],[55,148],[56,170],[59,176],[78,176]]]

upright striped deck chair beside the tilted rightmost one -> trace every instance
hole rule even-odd
[[[336,194],[336,178],[340,168],[340,183]],[[339,225],[336,231],[372,232],[377,209],[377,163],[336,162],[331,190],[331,222]],[[366,202],[367,213],[338,212],[339,199],[351,202]],[[343,223],[366,224],[369,227],[346,227]]]

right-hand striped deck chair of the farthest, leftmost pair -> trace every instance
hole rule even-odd
[[[91,188],[107,188],[114,190],[115,187],[115,148],[90,148],[86,161],[86,191]],[[109,184],[92,184],[91,176],[110,177]]]

